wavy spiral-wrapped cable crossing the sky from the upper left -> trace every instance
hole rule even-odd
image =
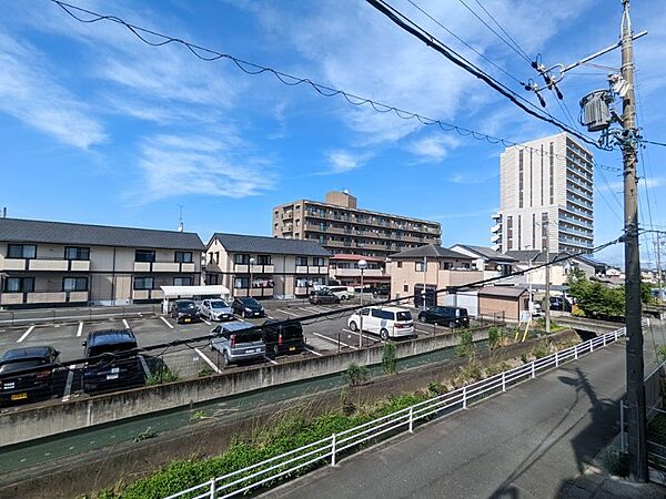
[[[465,136],[465,138],[471,136],[474,140],[485,141],[492,145],[502,144],[505,147],[515,146],[515,147],[523,149],[523,150],[538,151],[535,147],[529,147],[527,145],[524,145],[524,144],[521,144],[517,142],[513,142],[513,141],[509,141],[504,138],[498,138],[498,136],[490,135],[490,134],[478,132],[475,130],[471,130],[471,129],[467,129],[464,126],[446,123],[442,120],[428,118],[423,114],[415,113],[412,111],[406,111],[404,109],[401,109],[401,108],[397,108],[397,106],[394,106],[391,104],[384,104],[382,102],[379,102],[379,101],[375,101],[375,100],[372,100],[369,98],[360,96],[360,95],[353,94],[351,92],[346,92],[344,90],[339,90],[339,89],[334,89],[329,85],[316,83],[309,78],[295,77],[290,73],[278,71],[273,68],[256,64],[254,62],[244,61],[234,55],[218,52],[213,49],[208,49],[208,48],[198,45],[195,43],[188,42],[180,38],[170,37],[170,35],[163,34],[163,33],[159,33],[153,30],[149,30],[149,29],[135,26],[135,24],[131,24],[115,16],[100,14],[100,13],[93,12],[91,10],[83,9],[83,8],[80,8],[77,6],[72,6],[70,3],[67,3],[67,2],[63,2],[60,0],[51,0],[51,1],[56,4],[58,4],[62,10],[64,10],[64,12],[67,12],[71,18],[75,19],[79,22],[94,23],[94,22],[99,22],[99,21],[111,21],[111,22],[121,24],[124,28],[127,28],[129,31],[131,31],[141,41],[143,41],[144,43],[147,43],[151,47],[163,47],[169,43],[176,43],[176,44],[185,47],[190,52],[192,52],[192,54],[194,54],[196,58],[199,58],[203,61],[212,62],[212,61],[218,61],[218,60],[223,60],[223,59],[229,60],[229,61],[232,61],[236,65],[236,68],[239,68],[241,71],[243,71],[246,74],[258,75],[258,74],[262,74],[262,73],[269,73],[269,74],[272,74],[273,77],[275,77],[281,83],[283,83],[287,86],[296,86],[300,84],[305,84],[305,85],[312,88],[314,91],[316,91],[317,94],[320,94],[322,96],[326,96],[326,98],[342,96],[345,99],[346,102],[349,102],[350,104],[352,104],[354,106],[370,105],[374,111],[376,111],[379,113],[392,112],[395,116],[397,116],[402,120],[417,120],[420,123],[422,123],[424,125],[428,125],[428,126],[436,125],[444,132],[456,132],[461,136]],[[83,19],[80,16],[78,16],[74,11],[85,13],[87,16],[90,16],[91,19]],[[145,37],[143,37],[141,33],[150,34],[151,37],[160,39],[161,41],[152,42],[150,40],[147,40]],[[209,54],[209,55],[202,55],[200,52]],[[557,157],[557,159],[566,159],[566,156],[562,155],[562,154],[549,154],[547,152],[545,152],[544,154],[547,156],[553,156],[553,157]],[[595,163],[595,166],[603,169],[603,170],[608,170],[608,171],[620,171],[619,167],[608,166],[608,165],[603,165],[603,164],[597,164],[597,163]]]

